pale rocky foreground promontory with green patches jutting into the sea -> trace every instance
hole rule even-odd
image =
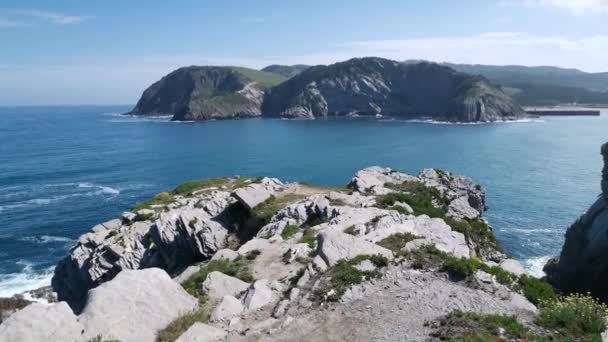
[[[485,202],[441,170],[186,183],[83,235],[59,302],[11,314],[0,341],[552,338],[553,290],[500,250]]]

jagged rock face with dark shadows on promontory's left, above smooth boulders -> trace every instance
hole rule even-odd
[[[133,214],[135,222],[123,217],[93,227],[55,268],[52,286],[59,300],[80,312],[88,290],[122,270],[160,267],[177,273],[211,258],[225,247],[229,234],[238,233],[238,227],[247,229],[246,209],[232,194],[253,182],[226,180],[223,188],[206,187],[192,196],[176,195],[171,203],[153,205],[153,215]],[[255,189],[268,194],[281,188],[275,179],[258,182]]]

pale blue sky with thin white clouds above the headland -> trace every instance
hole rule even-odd
[[[608,71],[608,0],[2,0],[0,106],[134,104],[186,65],[352,57]]]

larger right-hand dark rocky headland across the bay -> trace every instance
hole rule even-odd
[[[434,63],[355,58],[315,66],[274,87],[263,115],[317,118],[389,115],[444,121],[496,121],[523,110],[487,80]]]

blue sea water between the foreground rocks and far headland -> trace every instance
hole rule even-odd
[[[112,114],[128,109],[0,108],[0,297],[48,284],[80,234],[184,181],[268,175],[343,185],[370,165],[474,178],[506,251],[538,272],[597,198],[608,140],[607,113],[483,125]]]

